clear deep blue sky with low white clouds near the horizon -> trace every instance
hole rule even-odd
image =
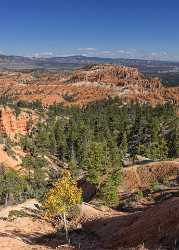
[[[1,0],[0,52],[179,61],[177,0]]]

